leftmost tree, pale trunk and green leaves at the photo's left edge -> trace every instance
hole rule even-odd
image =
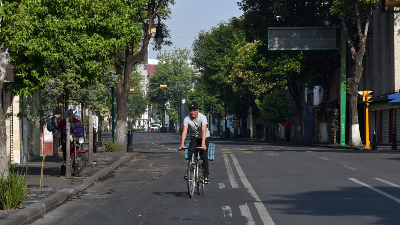
[[[14,36],[24,36],[30,33],[27,21],[23,20],[24,7],[20,0],[3,2],[0,0],[0,90],[3,90],[4,79],[10,61],[12,47],[10,43]],[[0,174],[8,177],[7,149],[6,149],[6,119],[4,117],[2,102],[0,102]]]

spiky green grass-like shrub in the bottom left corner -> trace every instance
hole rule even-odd
[[[28,176],[15,172],[14,167],[8,166],[8,178],[2,175],[0,179],[0,209],[18,209],[29,197],[26,179]]]

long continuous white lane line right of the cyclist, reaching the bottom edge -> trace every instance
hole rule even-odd
[[[242,180],[244,187],[247,189],[247,191],[250,193],[250,195],[252,197],[254,197],[254,199],[255,199],[254,205],[256,206],[256,209],[258,211],[258,214],[261,217],[262,222],[264,223],[264,225],[275,225],[274,221],[272,221],[270,214],[268,213],[267,209],[265,208],[264,203],[262,203],[262,201],[256,194],[256,191],[254,191],[253,187],[250,185],[249,181],[247,180],[246,175],[244,175],[242,167],[240,167],[235,155],[230,154],[230,157],[232,157],[232,161],[236,167],[236,170],[239,173],[240,180]]]

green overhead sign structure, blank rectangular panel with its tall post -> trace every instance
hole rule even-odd
[[[340,30],[340,34],[338,31]],[[336,37],[340,36],[340,41]],[[346,145],[346,38],[335,26],[269,27],[268,50],[340,50],[340,144]]]

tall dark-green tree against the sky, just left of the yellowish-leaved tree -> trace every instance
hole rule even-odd
[[[218,113],[218,120],[225,114],[225,122],[227,113],[232,112],[236,104],[232,102],[234,92],[229,84],[229,74],[238,48],[246,44],[244,31],[238,26],[238,21],[238,18],[231,18],[229,22],[222,21],[208,31],[201,30],[192,44],[192,64],[200,72],[198,89],[219,100],[215,102],[218,105],[211,108],[224,109],[215,112]]]

